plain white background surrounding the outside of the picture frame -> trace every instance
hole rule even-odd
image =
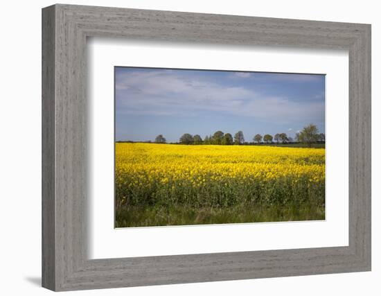
[[[381,19],[378,1],[66,1],[73,4],[285,17],[372,24],[373,271],[110,290],[76,295],[380,295]],[[53,1],[1,6],[1,294],[47,295],[41,266],[41,8]]]

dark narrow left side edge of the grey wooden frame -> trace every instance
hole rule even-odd
[[[42,286],[55,288],[55,8],[42,15]]]

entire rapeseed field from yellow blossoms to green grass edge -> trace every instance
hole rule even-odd
[[[325,149],[115,144],[116,227],[321,220]]]

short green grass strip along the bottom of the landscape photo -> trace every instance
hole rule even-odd
[[[317,204],[240,204],[219,208],[177,205],[175,207],[127,207],[116,211],[116,227],[205,225],[278,221],[324,220],[324,207]]]

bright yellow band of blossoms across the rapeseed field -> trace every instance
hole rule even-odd
[[[289,179],[325,182],[325,149],[116,143],[116,184],[202,188]],[[229,187],[230,188],[230,187]],[[201,190],[201,189],[198,189]]]

